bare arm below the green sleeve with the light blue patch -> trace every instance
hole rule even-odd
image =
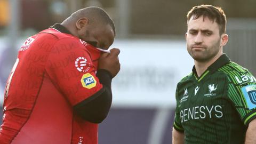
[[[253,119],[253,121],[250,122],[248,129],[246,131],[245,144],[252,144],[256,142],[255,132],[256,132],[256,119]]]

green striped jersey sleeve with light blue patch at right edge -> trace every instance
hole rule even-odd
[[[256,118],[256,79],[247,71],[228,75],[228,81],[228,97],[247,126]]]

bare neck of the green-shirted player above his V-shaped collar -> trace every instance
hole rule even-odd
[[[221,55],[222,55],[222,53],[219,53],[218,55],[213,57],[211,60],[204,61],[204,62],[194,60],[197,76],[200,77],[204,73],[204,71],[209,66],[212,65],[212,63],[214,63],[216,60],[218,60],[220,58]]]

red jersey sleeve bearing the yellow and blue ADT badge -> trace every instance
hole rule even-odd
[[[46,73],[72,106],[101,94],[102,84],[95,75],[90,54],[75,38],[62,38],[54,44]]]

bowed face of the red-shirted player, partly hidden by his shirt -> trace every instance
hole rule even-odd
[[[107,50],[113,44],[115,35],[110,25],[87,26],[79,38],[94,47]]]

